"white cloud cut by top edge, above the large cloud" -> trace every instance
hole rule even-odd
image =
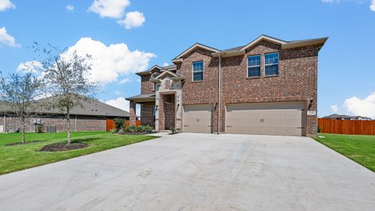
[[[101,18],[122,18],[129,5],[129,0],[94,0],[89,11],[98,13]]]

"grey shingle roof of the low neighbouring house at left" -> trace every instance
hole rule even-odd
[[[37,103],[46,103],[49,101],[49,98],[44,98]],[[0,113],[9,111],[8,105],[5,102],[0,102]],[[36,110],[37,113],[42,114],[60,114],[56,109],[45,109],[40,108]],[[129,112],[122,110],[120,108],[115,108],[106,103],[102,103],[98,100],[89,99],[87,101],[82,101],[82,108],[80,106],[75,107],[70,112],[71,115],[88,115],[88,116],[107,116],[107,117],[129,117]]]

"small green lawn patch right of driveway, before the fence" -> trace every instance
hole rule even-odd
[[[375,172],[375,136],[320,135],[326,138],[315,138],[315,140]]]

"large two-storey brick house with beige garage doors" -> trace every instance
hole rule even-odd
[[[328,38],[283,41],[262,35],[221,51],[193,44],[173,65],[154,65],[130,101],[156,131],[317,134],[318,52]]]

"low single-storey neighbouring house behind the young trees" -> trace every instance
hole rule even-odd
[[[46,98],[48,99],[48,98]],[[41,101],[47,101],[42,99]],[[0,102],[0,132],[13,132],[20,128],[17,117],[9,113],[6,103]],[[40,108],[36,114],[28,120],[27,132],[35,132],[34,123],[44,123],[45,132],[66,131],[65,116],[58,110],[46,110]],[[70,129],[72,131],[106,131],[107,120],[122,117],[129,120],[129,113],[125,110],[109,106],[101,101],[89,100],[82,102],[82,108],[73,108],[70,113]]]

